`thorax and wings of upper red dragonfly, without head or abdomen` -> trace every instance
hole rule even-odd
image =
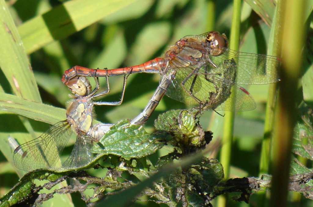
[[[255,108],[249,92],[238,84],[278,82],[280,60],[274,56],[211,48],[208,32],[189,35],[178,42],[178,52],[168,56],[169,68],[177,74],[167,96],[186,104],[206,104],[211,109],[248,111]],[[222,54],[212,56],[211,54]],[[233,94],[232,89],[233,88]],[[229,97],[234,97],[231,103]]]

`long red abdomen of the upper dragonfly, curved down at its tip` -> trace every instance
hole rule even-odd
[[[118,76],[130,73],[162,73],[167,66],[167,60],[164,58],[155,58],[148,62],[132,67],[123,67],[116,69],[91,69],[82,66],[74,66],[66,71],[62,76],[62,82],[67,85],[68,81],[75,76],[89,76],[89,77],[105,77],[105,76]]]

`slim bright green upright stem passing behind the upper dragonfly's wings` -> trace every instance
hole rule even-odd
[[[240,16],[241,16],[241,0],[233,1],[233,21],[230,31],[230,45],[229,48],[233,50],[239,49],[239,33],[240,33]],[[232,89],[232,93],[235,90]],[[235,96],[233,96],[235,97]],[[234,98],[233,98],[233,101]],[[223,129],[222,149],[221,149],[221,164],[224,168],[225,179],[229,178],[231,148],[233,141],[233,126],[234,126],[234,112],[225,113],[225,122]],[[218,197],[218,206],[226,206],[226,196]]]

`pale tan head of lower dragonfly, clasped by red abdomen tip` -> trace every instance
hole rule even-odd
[[[67,86],[74,95],[87,96],[91,92],[90,82],[83,76],[71,79]]]

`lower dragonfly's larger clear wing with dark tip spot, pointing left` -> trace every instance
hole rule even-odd
[[[25,171],[55,168],[71,134],[67,121],[56,123],[38,138],[19,145],[14,150],[14,165]]]

